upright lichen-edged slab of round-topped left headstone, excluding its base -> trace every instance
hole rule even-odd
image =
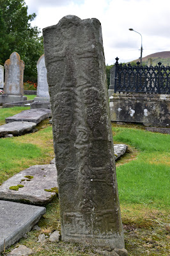
[[[4,94],[24,96],[24,67],[24,61],[20,60],[20,55],[17,52],[13,52],[6,60],[4,63]]]

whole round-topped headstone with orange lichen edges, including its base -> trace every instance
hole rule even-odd
[[[24,62],[20,60],[18,53],[14,52],[4,63],[5,80],[4,94],[0,98],[0,103],[10,103],[24,101]]]

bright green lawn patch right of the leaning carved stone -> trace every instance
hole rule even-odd
[[[141,151],[137,159],[116,168],[121,203],[169,207],[170,136],[132,128],[112,130],[114,141]]]

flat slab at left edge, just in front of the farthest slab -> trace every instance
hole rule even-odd
[[[15,136],[22,135],[33,130],[35,126],[36,123],[32,122],[12,122],[3,124],[0,126],[0,137],[4,137],[8,133],[11,133]]]

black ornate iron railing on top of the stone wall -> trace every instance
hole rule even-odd
[[[170,94],[170,67],[161,62],[155,67],[122,65],[116,58],[114,92]]]

